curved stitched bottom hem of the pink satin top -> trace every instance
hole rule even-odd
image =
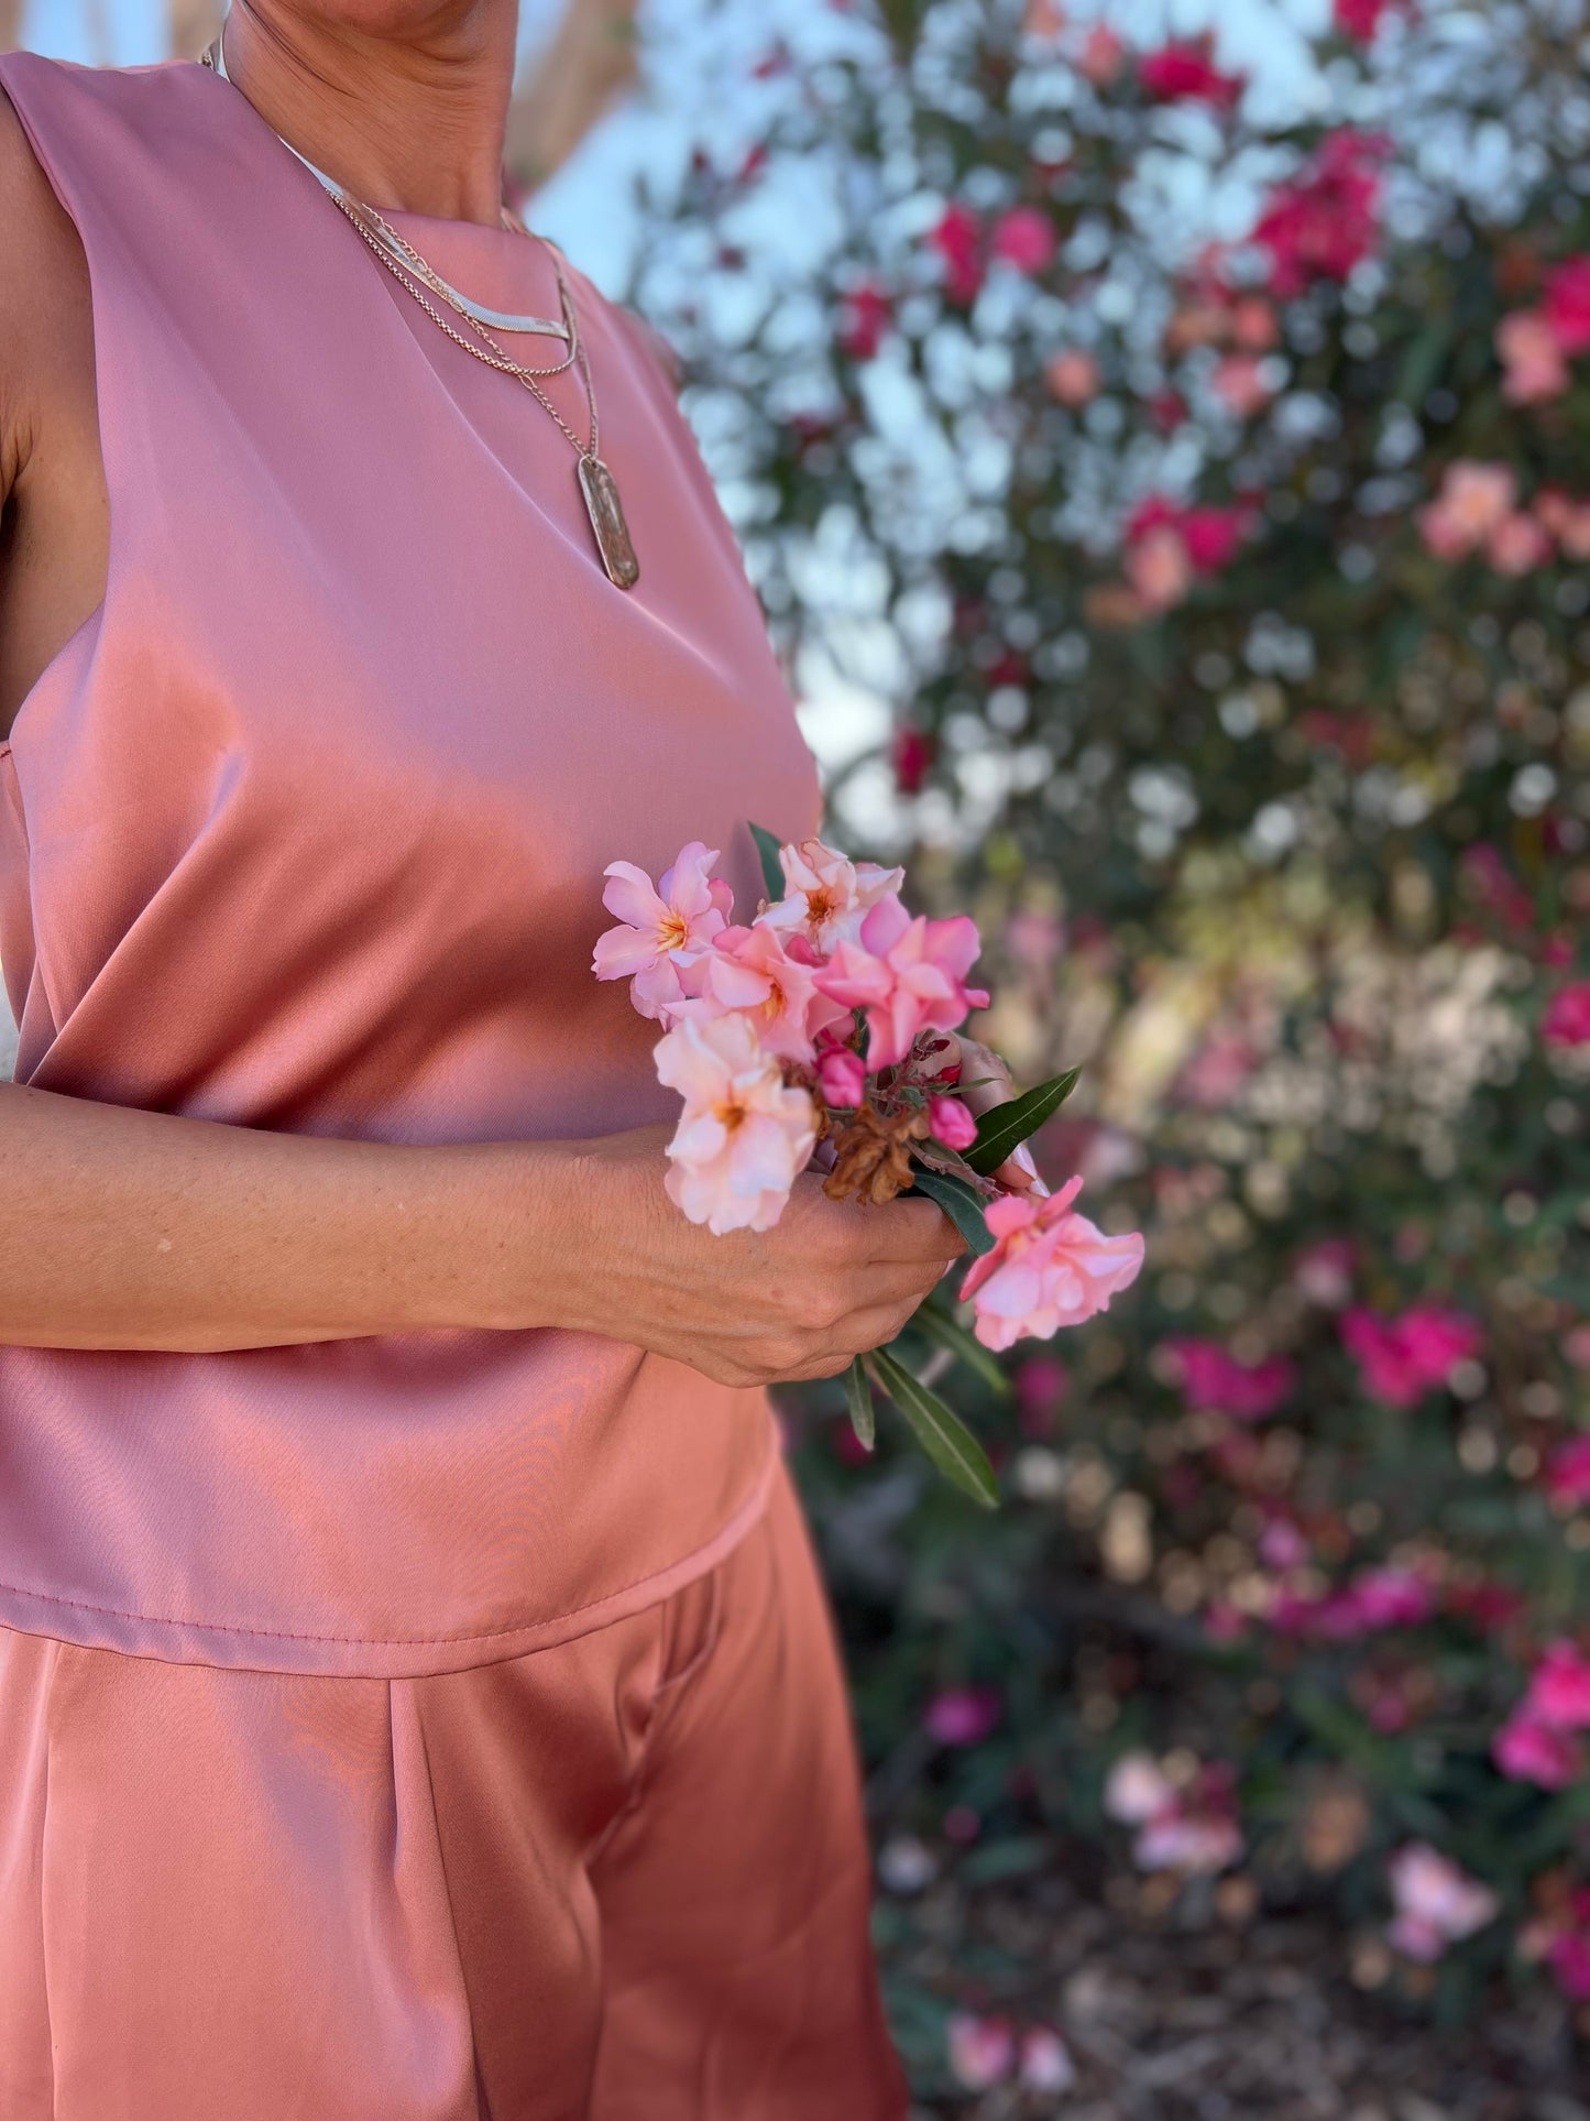
[[[772,1430],[772,1423],[770,1423]],[[469,1635],[329,1635],[242,1627],[227,1620],[172,1620],[95,1606],[89,1599],[30,1591],[0,1582],[0,1631],[42,1635],[76,1650],[144,1657],[159,1665],[210,1665],[218,1671],[276,1671],[307,1678],[424,1680],[477,1665],[500,1665],[534,1650],[555,1650],[579,1635],[628,1620],[659,1606],[710,1574],[755,1531],[767,1512],[782,1466],[778,1432],[770,1434],[765,1461],[727,1523],[704,1546],[664,1570],[621,1584],[598,1599],[545,1620],[519,1620]],[[81,1616],[76,1623],[68,1614]]]

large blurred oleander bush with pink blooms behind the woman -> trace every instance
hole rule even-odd
[[[757,174],[697,157],[640,297],[780,649],[888,706],[848,836],[973,908],[979,1037],[1085,1063],[1039,1162],[1149,1258],[1064,1368],[1011,1349],[986,1536],[905,1472],[880,1514],[833,1396],[797,1410],[869,1743],[1003,1701],[895,1824],[967,1864],[1147,1837],[1187,1907],[1217,1852],[1333,1905],[1365,1983],[1575,2009],[1584,11],[1338,0],[1291,110],[1109,11],[812,13],[742,106]],[[797,180],[829,235],[791,267],[750,238]]]

